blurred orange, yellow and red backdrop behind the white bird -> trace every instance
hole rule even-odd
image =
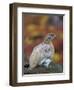
[[[48,33],[55,33],[53,62],[63,64],[63,15],[39,15],[23,13],[24,55],[28,63],[33,48],[41,43]]]

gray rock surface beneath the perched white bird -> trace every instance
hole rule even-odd
[[[48,68],[44,66],[37,66],[36,68],[29,70],[28,68],[24,68],[24,74],[41,74],[41,73],[62,73],[63,65],[55,64],[51,62]]]

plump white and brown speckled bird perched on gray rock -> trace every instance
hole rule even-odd
[[[43,65],[45,68],[48,68],[55,53],[55,48],[52,43],[55,37],[56,35],[54,33],[48,33],[44,40],[33,48],[29,57],[29,70],[34,69],[38,65]]]

